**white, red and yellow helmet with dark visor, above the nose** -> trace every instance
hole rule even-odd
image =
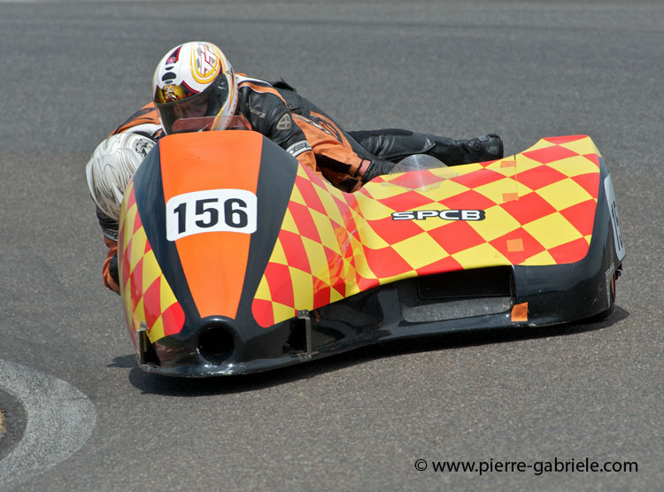
[[[169,50],[152,78],[152,100],[166,134],[177,119],[212,117],[223,128],[237,108],[233,67],[212,42],[185,42]]]

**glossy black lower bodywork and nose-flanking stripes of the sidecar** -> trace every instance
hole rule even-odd
[[[498,281],[502,286],[498,295],[467,296],[467,288],[464,288],[463,296],[441,298],[437,303],[438,314],[431,314],[430,320],[405,320],[406,299],[411,303],[418,296],[417,279],[408,279],[362,292],[315,311],[301,311],[297,318],[262,328],[251,315],[251,303],[279,234],[297,173],[297,161],[264,139],[257,193],[259,228],[251,238],[236,319],[200,319],[176,259],[177,250],[174,244],[166,242],[163,232],[165,206],[158,153],[152,152],[148,162],[143,163],[140,172],[136,173],[136,200],[152,248],[166,280],[181,302],[186,320],[181,334],[163,338],[152,346],[148,346],[143,337],[141,366],[148,372],[188,377],[253,373],[375,342],[484,328],[544,326],[586,319],[607,311],[613,304],[609,275],[613,276],[621,265],[614,250],[613,227],[603,186],[608,172],[601,159],[600,169],[591,244],[588,255],[579,262],[499,267],[492,272],[504,275]],[[149,211],[150,222],[144,219],[144,211]],[[454,274],[457,276],[455,281],[458,281],[459,273]],[[468,275],[471,277],[476,279],[476,272]],[[427,278],[427,284],[430,286],[436,278],[443,284],[446,274]],[[483,306],[491,304],[487,303],[489,297],[494,305],[493,311],[478,314]],[[522,303],[528,303],[528,320],[513,321],[512,307]],[[422,304],[436,308],[436,300],[430,298],[426,302],[423,300]],[[446,306],[452,305],[453,316],[440,315]],[[467,315],[458,314],[464,310]],[[206,344],[206,337],[212,338],[210,346]]]

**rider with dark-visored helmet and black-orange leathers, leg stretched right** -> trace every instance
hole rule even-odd
[[[203,118],[205,129],[223,129],[227,117],[235,115],[346,192],[357,191],[374,177],[390,173],[398,160],[413,154],[426,153],[446,165],[503,157],[503,143],[495,134],[454,140],[397,128],[344,131],[285,81],[268,83],[235,73],[211,42],[185,42],[169,50],[153,76],[152,103],[117,127],[111,138],[132,133],[158,140],[186,131],[176,122],[189,118]],[[88,166],[98,167],[102,157],[96,151]],[[89,186],[92,196],[97,196],[91,181]],[[117,218],[109,218],[98,204],[97,217],[106,238],[113,223],[117,231]],[[104,283],[117,291],[117,242],[107,242],[107,246]]]

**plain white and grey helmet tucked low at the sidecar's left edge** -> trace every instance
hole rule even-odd
[[[106,217],[120,220],[127,184],[155,142],[143,135],[111,135],[97,145],[85,166],[90,196]]]

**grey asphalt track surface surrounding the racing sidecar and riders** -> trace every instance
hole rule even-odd
[[[283,77],[348,129],[497,132],[506,153],[591,135],[627,242],[614,313],[233,379],[141,372],[120,299],[101,284],[84,165],[150,98],[158,59],[192,39],[217,42],[239,72]],[[0,489],[664,483],[659,2],[0,1],[0,46]],[[638,471],[480,475],[430,463],[586,457]]]

